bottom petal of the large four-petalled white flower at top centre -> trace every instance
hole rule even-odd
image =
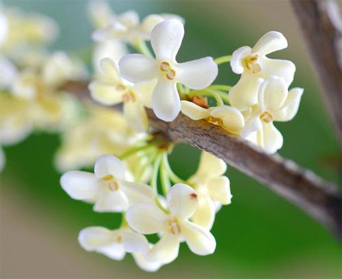
[[[170,122],[181,111],[181,100],[176,83],[171,81],[158,81],[152,95],[152,107],[157,118]]]

